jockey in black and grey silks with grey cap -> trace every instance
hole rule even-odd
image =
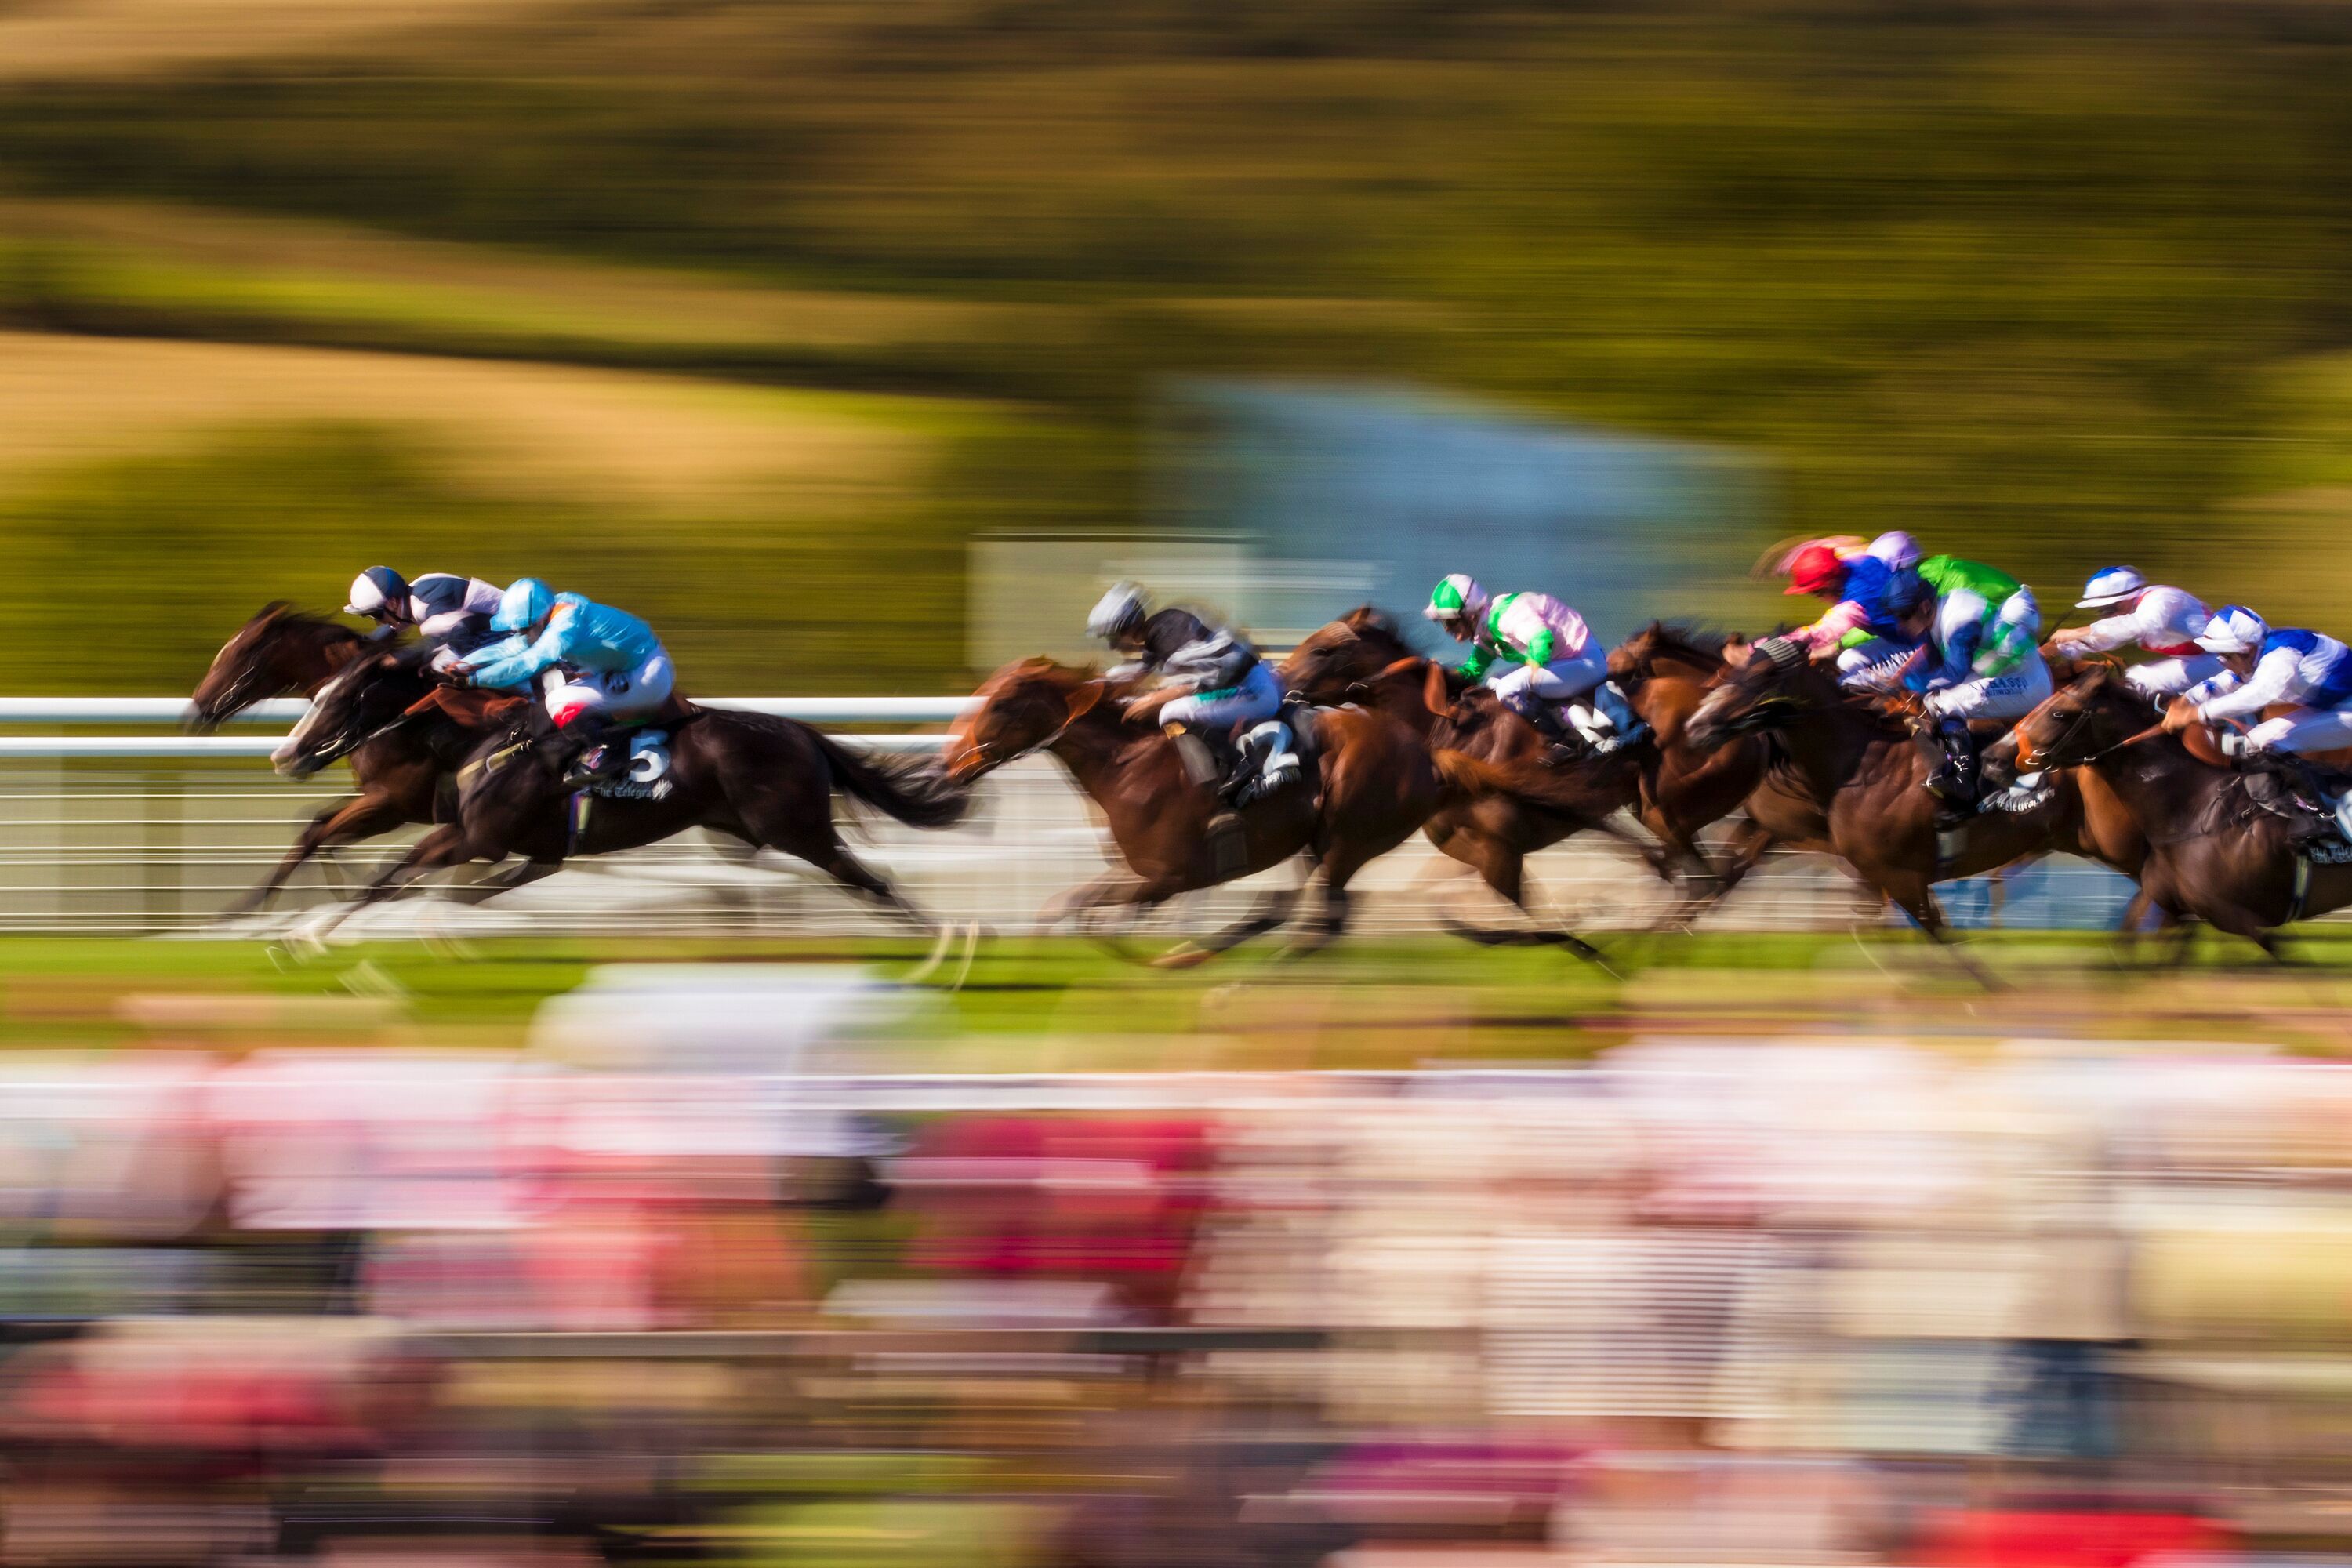
[[[1174,604],[1145,614],[1143,590],[1134,583],[1112,583],[1089,611],[1087,635],[1129,654],[1110,670],[1112,679],[1160,675],[1169,682],[1129,703],[1129,717],[1157,717],[1164,726],[1209,736],[1230,736],[1249,724],[1232,771],[1216,788],[1235,806],[1298,783],[1301,759],[1291,726],[1282,722],[1282,684],[1249,639]]]

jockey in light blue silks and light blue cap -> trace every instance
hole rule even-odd
[[[522,686],[560,670],[562,679],[546,686],[546,712],[572,741],[564,788],[626,773],[628,748],[609,745],[612,736],[661,712],[675,684],[654,628],[576,592],[548,592],[539,578],[508,585],[489,625],[510,635],[454,665],[449,677],[468,686]]]

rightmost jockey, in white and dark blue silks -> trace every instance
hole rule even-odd
[[[2326,752],[2352,745],[2352,649],[2321,632],[2270,625],[2244,604],[2225,604],[2197,646],[2218,654],[2223,672],[2190,686],[2164,710],[2164,729],[2190,724],[2251,724],[2223,736],[2230,755]],[[2265,708],[2291,712],[2265,719]]]

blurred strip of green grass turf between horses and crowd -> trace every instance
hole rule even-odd
[[[2178,971],[2126,969],[2100,936],[1994,933],[1983,992],[1903,933],[1604,938],[1616,973],[1548,950],[1355,940],[1310,959],[1242,950],[1157,971],[1082,940],[983,940],[964,985],[917,999],[873,1065],[929,1072],[1409,1067],[1581,1058],[1637,1034],[2030,1034],[2352,1048],[2352,931],[2303,938],[2288,971],[2204,938]],[[0,1046],[520,1044],[534,1009],[609,961],[863,964],[903,940],[489,940],[339,947],[0,938]],[[950,961],[950,971],[955,964]]]

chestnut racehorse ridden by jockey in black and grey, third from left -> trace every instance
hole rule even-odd
[[[1301,783],[1240,811],[1232,832],[1211,832],[1225,813],[1185,752],[1122,712],[1127,686],[1051,658],[1023,658],[988,677],[948,736],[948,778],[967,785],[1028,752],[1051,752],[1101,806],[1127,860],[1061,896],[1047,924],[1089,910],[1148,910],[1181,893],[1282,865],[1305,853],[1322,872],[1322,914],[1301,950],[1345,929],[1348,884],[1376,856],[1402,844],[1439,799],[1428,748],[1390,712],[1336,708],[1317,715],[1322,783]],[[1242,924],[1181,947],[1162,961],[1200,961],[1289,919],[1296,891],[1270,893]]]

